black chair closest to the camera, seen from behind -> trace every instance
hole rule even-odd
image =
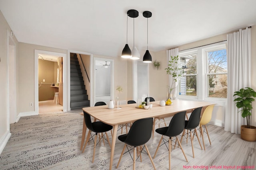
[[[150,152],[148,151],[148,147],[146,146],[146,143],[149,141],[150,137],[151,137],[151,131],[152,131],[152,126],[153,125],[153,118],[145,118],[145,119],[139,119],[134,121],[134,123],[132,124],[132,127],[130,128],[130,131],[127,134],[124,135],[120,135],[118,136],[118,139],[121,142],[124,142],[124,149],[122,150],[122,153],[120,155],[118,164],[116,166],[116,168],[118,168],[120,161],[122,159],[122,156],[124,154],[124,150],[127,147],[127,145],[132,146],[133,147],[133,169],[135,169],[135,162],[136,162],[136,147],[140,147],[141,145],[144,145],[144,147],[146,148],[146,151],[144,150],[144,147],[140,147],[140,150],[138,150],[137,152],[139,152],[138,157],[140,156],[141,158],[141,153],[146,153],[148,154],[151,163],[154,167],[154,169],[156,169],[154,162],[150,156]],[[128,147],[127,147],[128,149]],[[130,150],[132,149],[128,149],[127,152],[130,153]],[[130,153],[131,155],[131,153]],[[132,156],[131,156],[132,157]]]

